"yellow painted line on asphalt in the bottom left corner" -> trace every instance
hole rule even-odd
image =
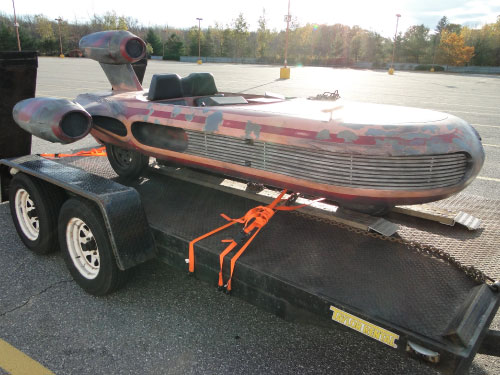
[[[54,375],[22,351],[0,339],[0,369],[10,375]]]

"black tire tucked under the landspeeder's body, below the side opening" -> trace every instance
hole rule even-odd
[[[130,180],[139,178],[149,165],[149,156],[112,144],[106,145],[106,155],[118,176]]]

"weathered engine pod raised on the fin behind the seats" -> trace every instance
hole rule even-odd
[[[146,56],[146,44],[128,31],[100,31],[80,39],[80,49],[103,64],[131,64]]]

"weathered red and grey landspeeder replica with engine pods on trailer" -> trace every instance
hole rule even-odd
[[[90,133],[122,176],[138,177],[155,157],[376,213],[455,194],[484,162],[478,133],[449,114],[219,92],[210,73],[154,75],[144,90],[131,65],[146,53],[137,36],[98,32],[80,49],[113,90],[24,100],[14,119],[53,142]]]

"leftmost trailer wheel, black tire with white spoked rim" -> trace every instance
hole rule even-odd
[[[57,216],[63,201],[64,193],[48,182],[24,173],[12,178],[9,187],[12,220],[17,234],[34,253],[47,254],[59,249]]]

